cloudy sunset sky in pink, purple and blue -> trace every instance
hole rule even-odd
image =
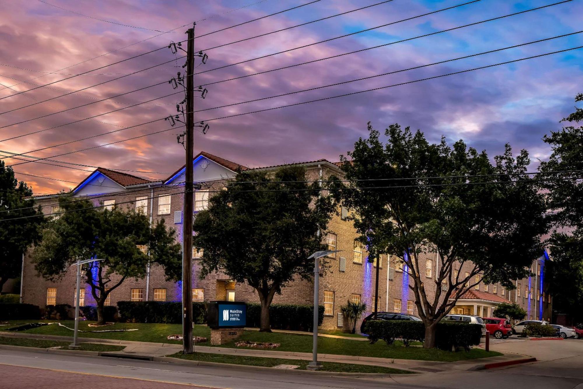
[[[188,26],[178,29],[177,27],[194,20],[199,20],[195,31],[196,35],[200,36],[311,1],[2,1],[0,4],[0,83],[2,84],[0,98],[164,47],[172,40],[185,40],[184,32]],[[203,72],[219,68],[468,1],[394,0],[265,37],[213,48],[381,2],[381,0],[320,0],[289,12],[196,39],[196,50],[205,50],[209,59],[195,71]],[[202,73],[195,76],[195,84],[216,82],[343,54],[558,1],[480,0],[366,33],[354,34],[285,54]],[[208,96],[204,100],[195,101],[195,110],[477,54],[574,33],[583,30],[582,27],[583,5],[580,0],[574,0],[522,15],[417,38],[405,43],[396,43],[264,75],[210,85]],[[173,29],[176,30],[170,33],[155,31],[164,32]],[[210,120],[279,107],[581,45],[583,45],[583,33],[394,75],[233,107],[209,109],[196,112],[195,118],[197,121]],[[99,57],[94,58],[97,56]],[[174,58],[175,55],[170,49],[164,48],[117,65],[95,70],[87,75],[76,76],[15,97],[4,98],[0,100],[0,112],[89,87]],[[77,63],[79,64],[71,66]],[[27,121],[130,90],[162,83],[174,76],[177,71],[184,71],[181,68],[183,63],[184,59],[177,59],[175,62],[138,72],[101,86],[91,87],[69,96],[0,114],[0,127],[6,126],[0,129],[0,140],[3,140],[0,142],[0,154],[27,153],[38,148],[163,119],[164,116],[174,114],[175,102],[182,100],[181,94],[37,134],[6,140],[175,93],[178,90],[173,90],[170,84],[163,83],[87,107]],[[339,155],[351,150],[358,137],[367,136],[366,123],[371,121],[377,129],[384,129],[391,123],[411,126],[413,129],[418,128],[435,142],[441,135],[445,135],[449,143],[463,139],[472,147],[487,150],[491,156],[500,153],[504,143],[510,142],[516,151],[519,148],[527,148],[531,151],[533,160],[536,161],[536,158],[544,160],[549,155],[549,148],[541,139],[550,130],[559,129],[561,126],[559,120],[574,111],[574,96],[583,92],[582,70],[583,49],[576,49],[348,97],[234,118],[210,120],[210,130],[206,135],[195,133],[195,153],[201,150],[208,151],[249,167],[320,158],[338,161]],[[48,74],[51,72],[54,74]],[[21,121],[27,122],[9,126]],[[170,128],[168,122],[161,120],[110,135],[34,151],[30,155],[41,158],[52,157],[168,128]],[[33,186],[36,194],[55,193],[61,189],[68,190],[75,186],[75,183],[68,181],[81,181],[89,174],[89,171],[93,171],[92,167],[96,166],[143,171],[131,173],[150,179],[166,178],[184,163],[184,149],[176,142],[176,135],[179,132],[182,132],[182,129],[174,128],[152,136],[51,158],[71,162],[72,164],[62,164],[69,168],[29,162],[16,165],[14,169],[19,173],[16,176]],[[29,158],[23,159],[29,160]],[[5,158],[5,162],[12,165],[23,160]],[[533,167],[535,166],[536,164],[533,164]],[[57,181],[25,176],[21,173],[55,178]],[[58,181],[58,179],[64,181]]]

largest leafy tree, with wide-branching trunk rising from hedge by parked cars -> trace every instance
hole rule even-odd
[[[347,186],[367,180],[373,189],[334,193],[354,211],[369,259],[387,253],[406,264],[426,328],[424,346],[434,347],[437,323],[476,285],[476,275],[512,288],[512,280],[529,274],[543,249],[545,203],[536,182],[522,175],[530,164],[526,150],[514,158],[507,145],[491,162],[485,151],[461,140],[452,147],[444,138],[431,144],[419,130],[395,124],[385,130],[383,144],[370,123],[368,131],[368,139],[359,139],[348,153],[350,160],[341,160]],[[436,251],[437,278],[428,280],[419,259]],[[467,277],[455,275],[463,264],[469,265]]]

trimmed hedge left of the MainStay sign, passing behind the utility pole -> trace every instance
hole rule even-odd
[[[181,302],[119,301],[120,321],[132,323],[182,323]],[[206,323],[206,304],[192,303],[192,320],[195,324]]]

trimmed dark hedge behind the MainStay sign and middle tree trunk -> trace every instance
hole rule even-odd
[[[318,325],[324,320],[324,306],[318,306]],[[272,304],[269,323],[276,330],[312,331],[314,306],[301,304]],[[261,304],[247,303],[247,327],[261,327]]]

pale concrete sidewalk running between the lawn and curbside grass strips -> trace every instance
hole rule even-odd
[[[22,334],[22,333],[5,333],[0,332],[0,336],[5,337],[19,337],[31,339],[45,339],[56,341],[71,341],[72,337],[60,335],[38,335],[38,334]],[[152,342],[135,342],[135,341],[121,341],[97,338],[79,338],[80,342],[91,342],[97,344],[119,344],[124,345],[125,348],[118,352],[105,352],[107,354],[125,356],[125,358],[150,358],[172,355],[182,350],[182,345],[171,343],[152,343]],[[312,354],[308,352],[290,352],[290,351],[273,351],[273,350],[259,350],[249,348],[227,348],[227,347],[213,347],[195,345],[195,351],[204,353],[214,353],[223,355],[238,355],[238,356],[255,356],[260,358],[282,358],[282,359],[301,359],[311,360]],[[525,355],[516,353],[505,353],[505,355],[494,356],[482,359],[461,360],[458,362],[436,362],[431,360],[415,360],[415,359],[389,359],[376,358],[371,356],[354,356],[354,355],[338,355],[338,354],[318,354],[318,360],[321,362],[337,362],[337,363],[353,363],[356,365],[376,365],[383,367],[393,367],[395,369],[411,370],[419,373],[434,373],[452,370],[479,370],[484,369],[486,365],[491,363],[505,363],[513,360],[521,360],[526,358]]]

